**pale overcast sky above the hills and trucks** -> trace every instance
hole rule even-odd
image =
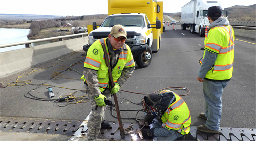
[[[128,1],[128,0],[123,0]],[[181,7],[191,0],[157,0],[163,1],[163,12],[181,12]],[[220,0],[223,7],[234,5],[249,6],[256,4],[253,0]],[[108,0],[75,0],[75,1],[32,1],[14,0],[1,2],[0,14],[34,14],[56,16],[82,16],[108,14]]]

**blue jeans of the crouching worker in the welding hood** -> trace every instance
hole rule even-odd
[[[159,117],[156,117],[154,120],[153,120],[153,123],[150,124],[150,128],[161,128],[161,129],[164,129],[162,127],[162,120],[161,118],[159,119]],[[154,134],[156,134],[156,130],[154,131]],[[163,140],[166,140],[166,141],[174,141],[175,139],[179,138],[179,137],[182,137],[183,135],[178,133],[177,131],[174,131],[174,130],[168,130],[166,129],[165,132],[158,132],[158,134],[162,134],[162,136],[156,136],[156,137],[153,137],[153,140],[154,141],[163,141]]]

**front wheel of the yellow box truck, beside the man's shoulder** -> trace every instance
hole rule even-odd
[[[136,58],[136,63],[139,67],[145,68],[150,65],[151,60],[152,50],[149,46],[147,46],[147,50]]]

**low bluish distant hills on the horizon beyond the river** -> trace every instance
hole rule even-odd
[[[26,20],[35,20],[35,19],[54,19],[61,16],[53,15],[31,15],[31,14],[0,14],[0,19],[26,19]]]

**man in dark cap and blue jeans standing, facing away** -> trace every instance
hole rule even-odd
[[[199,117],[206,120],[197,130],[205,133],[219,133],[222,92],[232,77],[234,62],[234,31],[226,17],[222,16],[219,6],[208,9],[210,22],[205,37],[205,50],[197,74],[197,80],[203,82],[205,113]]]

